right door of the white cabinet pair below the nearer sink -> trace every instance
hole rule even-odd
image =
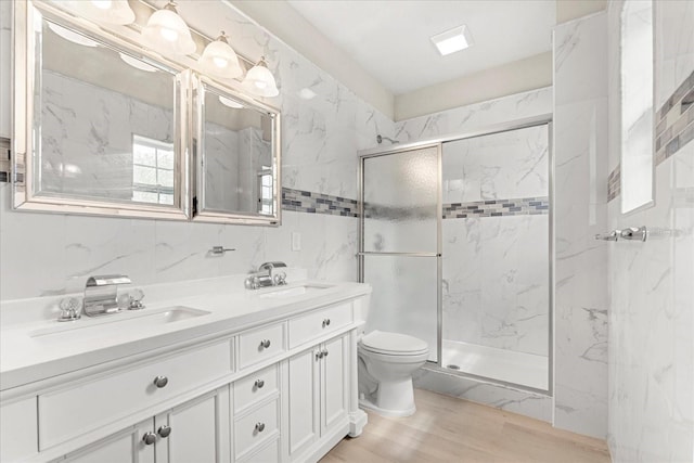
[[[156,463],[230,462],[229,386],[154,419]]]

